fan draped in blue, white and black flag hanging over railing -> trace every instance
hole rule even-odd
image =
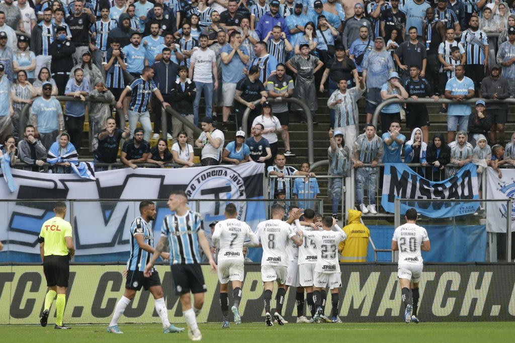
[[[61,133],[57,142],[54,142],[48,150],[48,163],[53,165],[53,173],[76,174],[81,178],[95,180],[95,171],[92,162],[79,162],[79,154],[70,143],[70,135]]]

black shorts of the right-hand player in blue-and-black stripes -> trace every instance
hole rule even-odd
[[[190,293],[190,291],[193,294],[208,291],[199,264],[173,264],[170,268],[175,295]]]

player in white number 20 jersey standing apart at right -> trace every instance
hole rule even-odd
[[[402,290],[402,302],[406,308],[404,321],[419,323],[417,317],[419,301],[419,281],[422,276],[422,253],[431,250],[431,243],[427,231],[416,224],[417,210],[411,208],[406,211],[406,224],[401,225],[391,240],[391,250],[399,250],[399,267],[397,276]],[[411,299],[413,298],[413,305]],[[413,310],[413,315],[411,313]]]

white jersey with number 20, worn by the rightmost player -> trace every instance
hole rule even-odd
[[[393,232],[392,241],[399,246],[399,264],[423,264],[420,246],[429,241],[423,227],[409,223],[401,225]]]

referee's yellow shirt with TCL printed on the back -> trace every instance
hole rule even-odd
[[[72,226],[61,217],[54,217],[44,222],[39,236],[45,239],[45,256],[64,256],[68,254],[64,237],[72,237]]]

